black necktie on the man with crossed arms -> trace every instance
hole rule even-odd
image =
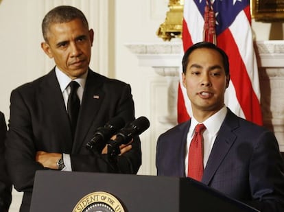
[[[68,113],[69,120],[71,123],[72,134],[74,136],[75,129],[76,129],[76,123],[78,119],[78,113],[80,109],[80,99],[77,95],[77,89],[80,85],[76,81],[71,81],[69,83],[69,86],[71,88],[71,92],[69,94],[68,102],[67,102],[67,113]]]

